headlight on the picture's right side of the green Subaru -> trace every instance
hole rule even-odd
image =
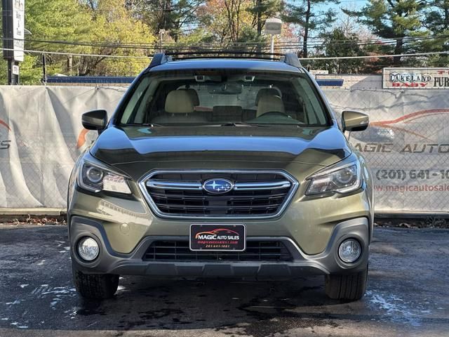
[[[349,193],[357,190],[362,183],[358,161],[316,173],[311,177],[307,195],[329,192]]]

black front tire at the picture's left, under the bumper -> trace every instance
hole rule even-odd
[[[111,298],[119,287],[119,275],[84,274],[73,268],[76,290],[83,298],[104,300]]]

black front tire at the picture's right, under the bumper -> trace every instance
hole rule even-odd
[[[366,291],[368,265],[361,272],[348,275],[326,275],[326,295],[333,300],[359,300]]]

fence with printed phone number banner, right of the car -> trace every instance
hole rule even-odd
[[[339,118],[344,110],[370,116],[370,127],[349,140],[373,174],[376,212],[447,212],[447,89],[382,89],[382,75],[326,77],[344,80],[324,89]]]

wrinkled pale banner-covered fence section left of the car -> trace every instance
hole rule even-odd
[[[88,110],[113,112],[126,88],[0,86],[0,207],[60,207],[69,174],[95,131]]]

